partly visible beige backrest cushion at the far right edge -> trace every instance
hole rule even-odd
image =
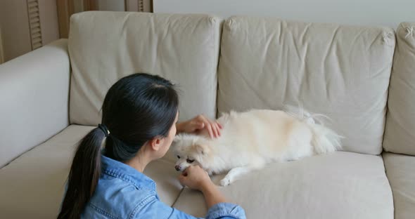
[[[397,28],[383,147],[415,155],[415,22]]]

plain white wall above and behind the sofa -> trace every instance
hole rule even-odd
[[[415,21],[415,0],[153,0],[153,11],[397,27],[402,21]]]

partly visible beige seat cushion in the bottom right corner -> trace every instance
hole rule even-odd
[[[384,153],[383,161],[392,187],[395,219],[415,218],[415,157]]]

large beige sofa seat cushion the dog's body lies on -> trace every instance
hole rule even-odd
[[[270,164],[220,190],[247,218],[393,218],[380,156],[336,152]],[[198,216],[207,210],[202,194],[187,188],[174,207]]]

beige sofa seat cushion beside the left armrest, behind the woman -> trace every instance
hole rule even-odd
[[[91,126],[71,125],[0,169],[0,218],[56,218],[77,142]],[[172,205],[181,192],[174,164],[154,161],[145,170],[160,199]]]

